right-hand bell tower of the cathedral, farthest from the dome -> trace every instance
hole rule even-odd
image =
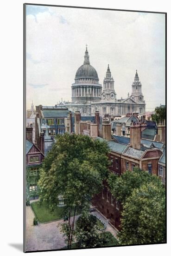
[[[142,94],[142,84],[139,81],[139,76],[138,76],[137,70],[136,70],[134,81],[132,84],[131,98],[133,99],[133,101],[136,101],[136,102],[144,101],[144,96]]]

